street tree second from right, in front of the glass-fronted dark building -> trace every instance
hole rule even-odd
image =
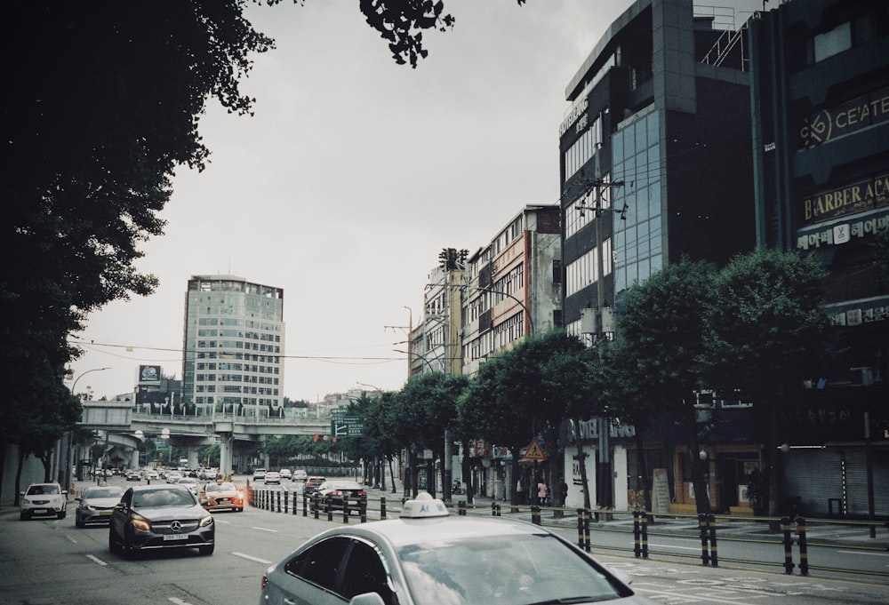
[[[700,458],[705,435],[699,434],[694,403],[702,384],[715,275],[709,263],[682,259],[631,286],[622,300],[614,352],[623,384],[635,385],[625,403],[647,401],[685,427],[698,513],[710,512],[707,467]],[[631,405],[622,411],[628,418],[642,416]]]

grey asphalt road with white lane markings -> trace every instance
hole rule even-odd
[[[286,484],[284,489],[288,489]],[[108,553],[108,529],[76,529],[73,507],[60,521],[26,522],[19,521],[15,511],[0,514],[0,603],[256,603],[264,569],[330,526],[324,515],[316,520],[312,515],[272,513],[252,507],[243,513],[214,516],[218,526],[212,556],[149,553],[137,561],[124,561]],[[341,518],[335,522],[341,523]],[[570,536],[568,529],[563,531]],[[701,566],[700,561],[637,560],[629,554],[617,555],[595,547],[593,554],[628,572],[638,592],[669,605],[885,605],[889,601],[889,585],[866,577],[844,580],[714,569]]]

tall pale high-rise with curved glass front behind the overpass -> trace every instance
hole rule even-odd
[[[196,414],[279,414],[284,402],[283,355],[283,289],[234,275],[191,276],[185,298],[182,396]]]

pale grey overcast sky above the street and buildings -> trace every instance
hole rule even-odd
[[[630,4],[445,0],[456,25],[424,34],[416,69],[396,65],[358,0],[249,4],[277,45],[242,82],[255,115],[208,107],[211,163],[180,169],[165,235],[137,264],[160,286],[90,316],[76,390],[132,393],[141,364],[181,378],[191,275],[284,289],[285,396],[400,389],[394,349],[420,321],[438,252],[476,251],[526,204],[557,203],[565,87]]]

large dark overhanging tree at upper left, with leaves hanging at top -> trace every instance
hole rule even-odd
[[[279,0],[267,0],[277,4]],[[274,41],[244,19],[245,0],[56,3],[5,7],[4,243],[0,367],[5,409],[52,401],[78,352],[68,334],[116,299],[147,296],[134,266],[163,234],[159,212],[180,165],[204,167],[208,100],[249,114],[239,83]],[[422,32],[453,26],[441,2],[361,0],[399,63],[427,55]],[[35,37],[34,24],[39,24]],[[13,430],[12,434],[20,434]],[[6,442],[0,443],[5,450]]]

